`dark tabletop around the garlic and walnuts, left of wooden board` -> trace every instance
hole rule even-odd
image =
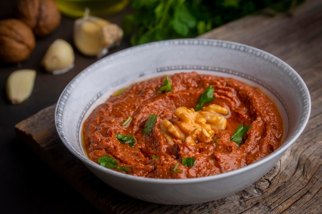
[[[12,18],[16,1],[0,1],[0,19]],[[108,17],[121,25],[129,9]],[[0,212],[1,213],[98,213],[98,209],[72,189],[36,154],[16,138],[14,125],[45,107],[55,104],[68,82],[80,71],[96,62],[96,57],[80,54],[73,44],[74,19],[62,16],[60,26],[50,35],[37,38],[30,57],[22,63],[7,65],[0,62]],[[0,32],[1,33],[1,32]],[[69,42],[75,52],[75,67],[67,73],[52,75],[40,67],[49,45],[57,38]],[[124,39],[109,54],[129,47]],[[6,81],[9,74],[19,69],[35,69],[37,76],[28,100],[12,105],[7,100]]]

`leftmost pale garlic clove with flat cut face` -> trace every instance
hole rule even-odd
[[[13,71],[7,80],[6,91],[12,104],[20,104],[27,100],[33,90],[36,71],[30,69]]]

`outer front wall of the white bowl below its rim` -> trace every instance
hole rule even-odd
[[[185,180],[132,179],[106,174],[104,170],[96,167],[87,167],[106,184],[133,198],[158,204],[188,205],[221,199],[248,187],[264,176],[281,155],[276,155],[252,169]]]

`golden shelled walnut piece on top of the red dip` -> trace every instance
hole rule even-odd
[[[173,145],[173,139],[194,145],[212,141],[214,130],[226,128],[227,120],[223,115],[227,115],[228,110],[212,104],[200,111],[179,107],[174,110],[174,114],[178,120],[162,120],[159,124],[160,132],[170,145]]]

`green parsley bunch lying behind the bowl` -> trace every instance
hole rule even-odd
[[[122,28],[132,45],[188,38],[264,8],[281,12],[305,0],[130,0]]]

